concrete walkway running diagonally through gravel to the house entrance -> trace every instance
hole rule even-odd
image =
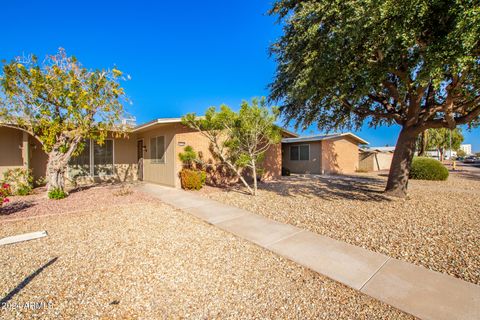
[[[141,191],[421,319],[480,319],[480,286],[183,190]]]

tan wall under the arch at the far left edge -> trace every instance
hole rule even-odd
[[[0,127],[0,179],[8,169],[23,167],[22,137],[20,130]]]

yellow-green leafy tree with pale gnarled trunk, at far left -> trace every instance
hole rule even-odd
[[[35,56],[16,58],[3,66],[0,78],[0,124],[38,139],[48,154],[47,189],[65,187],[69,160],[85,139],[103,143],[109,131],[125,128],[117,121],[126,100],[122,72],[87,70],[63,49],[39,63]]]

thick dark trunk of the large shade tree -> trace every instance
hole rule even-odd
[[[407,195],[408,176],[415,152],[416,139],[417,134],[413,129],[404,127],[400,131],[385,188],[387,195],[399,198]]]

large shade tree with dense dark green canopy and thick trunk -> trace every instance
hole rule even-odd
[[[401,127],[386,192],[405,196],[417,136],[477,125],[478,1],[278,0],[271,99],[297,126]]]

